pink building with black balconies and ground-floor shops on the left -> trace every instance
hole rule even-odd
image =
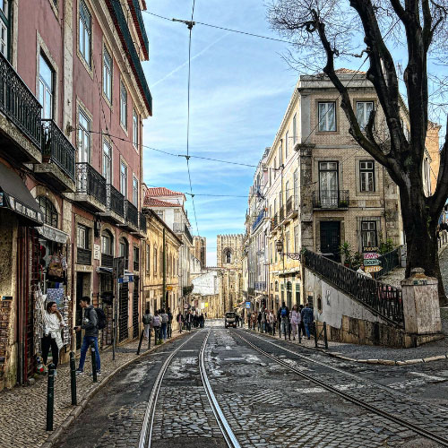
[[[67,323],[62,358],[79,349],[79,299],[109,306],[118,255],[134,280],[116,293],[118,339],[138,332],[142,120],[152,109],[144,8],[0,2],[0,389],[32,375],[46,299]]]

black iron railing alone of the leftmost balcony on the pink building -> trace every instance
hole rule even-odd
[[[0,53],[0,111],[41,149],[42,107],[38,99]]]

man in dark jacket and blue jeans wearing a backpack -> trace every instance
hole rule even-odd
[[[87,350],[90,347],[90,344],[93,342],[95,347],[95,360],[97,364],[97,375],[101,375],[101,359],[99,358],[99,349],[98,349],[98,315],[95,311],[95,308],[92,304],[90,304],[90,297],[82,297],[80,300],[80,306],[83,310],[83,318],[82,324],[74,327],[76,332],[81,332],[84,330],[84,337],[82,338],[82,347],[81,347],[81,356],[80,363],[78,365],[78,369],[76,370],[77,374],[84,373],[84,362],[85,356],[87,354]]]

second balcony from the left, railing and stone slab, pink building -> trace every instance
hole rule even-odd
[[[42,120],[42,163],[34,166],[36,176],[60,192],[75,191],[72,142],[53,120]]]

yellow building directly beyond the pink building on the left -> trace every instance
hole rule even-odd
[[[146,240],[143,243],[143,307],[151,313],[163,306],[169,306],[175,314],[179,306],[178,270],[179,248],[182,240],[151,209],[144,210],[146,216]],[[165,254],[163,233],[165,229]],[[165,255],[166,301],[163,298],[163,257]]]

